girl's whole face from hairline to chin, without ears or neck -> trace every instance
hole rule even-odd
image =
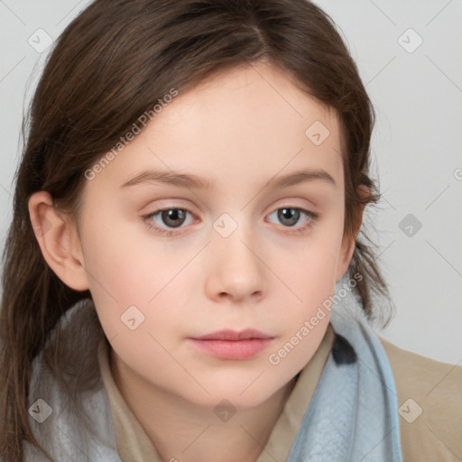
[[[100,170],[79,245],[117,368],[202,406],[280,390],[319,347],[328,310],[310,319],[350,258],[336,116],[269,66],[228,70]],[[191,339],[224,329],[260,334]]]

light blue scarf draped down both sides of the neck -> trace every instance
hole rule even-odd
[[[379,338],[363,320],[332,311],[330,321],[334,346],[287,461],[402,462],[396,390]],[[67,411],[58,391],[40,393],[52,413],[42,423],[31,417],[32,430],[56,462],[122,462],[104,386],[84,401],[91,433]],[[26,462],[48,460],[28,444],[24,449]]]

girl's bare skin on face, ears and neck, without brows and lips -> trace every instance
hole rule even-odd
[[[305,135],[315,121],[330,132],[320,145]],[[328,312],[278,365],[268,357],[334,293],[354,250],[355,236],[343,235],[340,151],[336,115],[258,63],[219,73],[163,107],[88,180],[75,221],[52,207],[46,191],[30,199],[33,222],[46,219],[50,227],[37,232],[45,260],[69,287],[91,291],[115,383],[163,460],[254,461],[262,452],[292,379],[319,347]],[[215,185],[121,188],[147,169],[193,173]],[[328,171],[337,186],[318,179],[264,187],[275,175],[310,169]],[[319,218],[300,213],[291,226],[290,216],[278,217],[283,207]],[[183,222],[173,221],[180,227],[151,218],[176,235],[141,219],[159,208],[188,209]],[[237,225],[227,237],[213,227],[224,213]],[[131,330],[121,316],[133,305],[144,321]],[[187,339],[223,328],[256,328],[273,343],[250,359],[228,360]],[[223,399],[236,409],[227,421],[214,412]]]

